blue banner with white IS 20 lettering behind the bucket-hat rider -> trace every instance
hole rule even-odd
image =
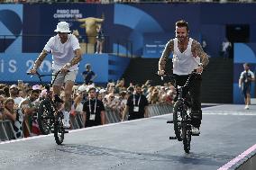
[[[38,53],[27,54],[0,54],[0,82],[15,82],[22,79],[24,82],[37,82],[36,76],[28,76],[26,73],[33,67],[34,60]],[[38,71],[41,74],[51,74],[51,55],[48,55]],[[118,80],[129,65],[130,58],[119,58],[113,55],[83,55],[79,63],[77,83],[83,83],[82,73],[85,71],[86,64],[90,64],[92,70],[96,73],[96,83],[107,83],[109,80]],[[50,82],[51,77],[45,77],[42,80]]]

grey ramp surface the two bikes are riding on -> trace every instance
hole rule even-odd
[[[174,136],[169,114],[72,131],[62,146],[52,135],[2,144],[0,169],[214,170],[255,144],[255,111],[244,115],[242,105],[204,109],[201,135],[193,137],[189,155],[182,142],[169,140]]]

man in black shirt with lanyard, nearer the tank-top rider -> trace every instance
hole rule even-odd
[[[135,85],[135,93],[130,95],[124,112],[123,119],[124,121],[126,114],[128,113],[128,121],[141,119],[148,117],[147,106],[149,105],[147,98],[142,94],[142,86]]]

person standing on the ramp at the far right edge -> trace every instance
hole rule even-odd
[[[255,80],[255,76],[250,70],[250,65],[248,63],[244,63],[243,68],[244,71],[242,71],[239,78],[239,88],[242,88],[242,93],[244,95],[244,109],[249,109],[251,103],[251,82]]]

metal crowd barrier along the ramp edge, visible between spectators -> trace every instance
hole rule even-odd
[[[149,117],[158,116],[162,114],[168,114],[172,112],[173,107],[169,104],[151,104],[147,107],[147,112]],[[128,116],[126,116],[126,121]],[[70,115],[70,124],[71,129],[81,129],[84,128],[84,121],[83,115],[80,112],[76,112],[75,114]],[[122,121],[122,114],[120,112],[114,112],[110,109],[105,110],[105,123],[115,123]],[[27,123],[23,123],[23,129],[28,128]],[[31,132],[29,131],[30,136],[32,136]],[[23,138],[23,134],[22,134]],[[10,140],[10,139],[17,139],[14,131],[14,126],[12,121],[5,120],[0,121],[0,139],[1,141]]]

